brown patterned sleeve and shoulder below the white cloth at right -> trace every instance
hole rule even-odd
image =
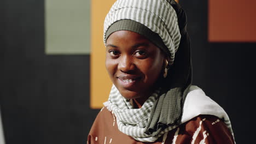
[[[166,143],[235,143],[222,119],[199,115],[169,131]]]

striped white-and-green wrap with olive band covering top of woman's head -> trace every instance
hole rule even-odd
[[[132,20],[135,22],[120,20]],[[113,23],[115,24],[113,25]],[[149,35],[144,34],[145,28],[139,26],[138,23],[146,26],[152,33]],[[111,29],[109,29],[110,26]],[[159,35],[164,46],[170,51],[170,63],[173,63],[181,34],[179,33],[176,12],[166,0],[118,0],[114,3],[104,21],[104,43],[106,44],[111,32],[120,30],[138,32],[152,41],[158,38],[154,37],[155,35]],[[155,44],[159,46],[158,43]]]

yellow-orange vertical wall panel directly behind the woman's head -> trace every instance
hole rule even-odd
[[[112,82],[105,67],[103,22],[115,0],[91,1],[90,107],[100,109],[107,101]]]

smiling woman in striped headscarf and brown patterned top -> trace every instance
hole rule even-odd
[[[113,87],[88,143],[235,143],[226,112],[191,86],[186,26],[175,1],[114,3],[104,21]]]

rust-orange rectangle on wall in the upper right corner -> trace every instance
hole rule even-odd
[[[210,42],[255,42],[256,1],[209,0]]]

